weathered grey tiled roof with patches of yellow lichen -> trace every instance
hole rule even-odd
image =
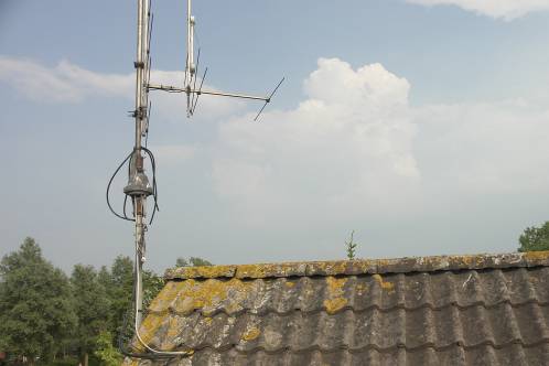
[[[549,365],[549,252],[179,268],[165,278],[143,340],[193,351],[168,365]]]

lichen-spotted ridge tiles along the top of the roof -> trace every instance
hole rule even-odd
[[[168,281],[211,278],[259,279],[304,276],[433,272],[444,270],[503,269],[538,266],[549,266],[549,251],[179,267],[168,269],[164,273],[164,279]]]

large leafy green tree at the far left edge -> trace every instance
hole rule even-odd
[[[0,262],[0,343],[12,355],[51,360],[76,324],[67,277],[26,238]]]

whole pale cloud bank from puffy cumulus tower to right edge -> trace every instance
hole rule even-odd
[[[474,212],[486,195],[547,191],[549,104],[411,107],[409,90],[379,64],[321,58],[295,109],[219,125],[215,192],[237,219],[291,225],[446,214],[463,197]]]

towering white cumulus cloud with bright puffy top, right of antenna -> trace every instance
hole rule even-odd
[[[269,207],[280,214],[400,206],[420,181],[409,88],[379,64],[353,69],[319,60],[295,109],[268,112],[259,123],[245,116],[220,125],[217,193],[250,215]]]

